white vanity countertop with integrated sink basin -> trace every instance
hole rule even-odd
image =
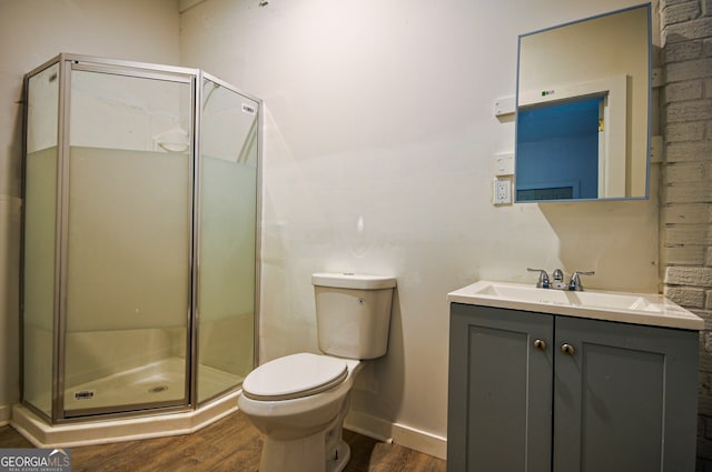
[[[701,318],[659,294],[590,290],[570,292],[481,280],[448,293],[448,301],[513,310],[700,330]]]

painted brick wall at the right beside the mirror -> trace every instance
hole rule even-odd
[[[712,471],[712,0],[661,0],[664,293],[705,320],[698,471]]]

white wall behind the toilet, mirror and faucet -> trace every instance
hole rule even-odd
[[[396,275],[389,353],[363,373],[354,409],[442,455],[448,291],[479,278],[534,283],[526,267],[561,267],[595,270],[589,288],[656,292],[654,187],[651,201],[490,203],[493,157],[514,148],[493,100],[514,94],[517,34],[636,3],[207,0],[186,10],[184,66],[266,104],[261,360],[317,349],[312,272]]]

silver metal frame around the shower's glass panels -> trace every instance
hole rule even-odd
[[[60,53],[32,69],[23,80],[23,130],[22,130],[22,201],[26,198],[27,179],[27,140],[28,140],[28,98],[29,80],[37,73],[59,64],[59,103],[57,129],[57,194],[55,209],[55,277],[53,277],[53,315],[52,315],[52,379],[51,379],[51,414],[48,415],[40,408],[30,403],[24,398],[24,204],[22,205],[21,234],[20,234],[20,398],[21,403],[33,413],[51,424],[72,423],[87,420],[106,420],[109,418],[126,418],[137,415],[162,414],[170,412],[186,412],[196,410],[201,404],[230,394],[241,389],[241,383],[218,393],[217,395],[198,402],[198,278],[199,278],[199,235],[200,235],[200,116],[199,107],[202,103],[202,79],[208,79],[230,91],[244,96],[257,102],[257,163],[256,163],[256,221],[255,221],[255,292],[253,314],[253,368],[257,365],[259,353],[259,285],[260,268],[259,253],[261,247],[261,149],[263,149],[263,101],[246,93],[200,69],[172,67],[146,62],[106,59],[82,54]],[[70,414],[65,408],[65,349],[67,328],[67,253],[68,253],[68,222],[69,222],[69,132],[71,100],[71,72],[72,70],[125,76],[139,79],[166,80],[170,82],[188,83],[190,86],[190,133],[189,171],[188,171],[188,201],[189,208],[189,243],[188,243],[188,312],[186,314],[186,359],[185,359],[185,390],[181,400],[167,402],[147,402],[130,405],[101,406],[82,410],[71,410]],[[68,99],[69,98],[69,99]]]

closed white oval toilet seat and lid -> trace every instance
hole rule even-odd
[[[347,375],[345,360],[303,352],[255,369],[243,382],[243,394],[261,401],[298,399],[332,389]]]

